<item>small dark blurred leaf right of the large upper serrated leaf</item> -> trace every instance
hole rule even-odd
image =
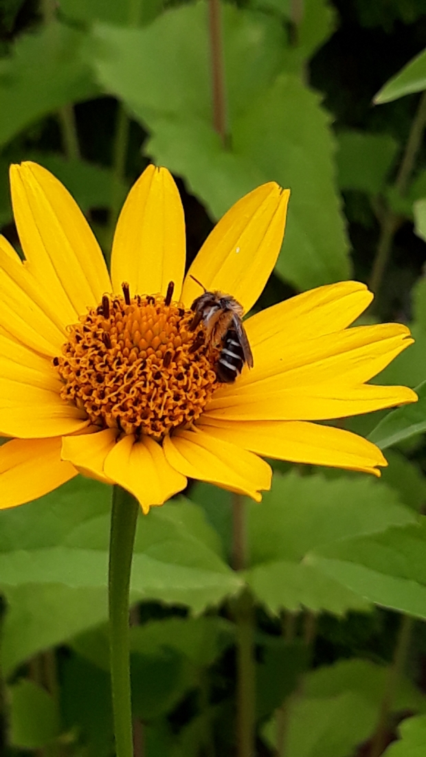
[[[337,136],[337,178],[341,189],[378,195],[398,151],[388,134],[347,131]]]

